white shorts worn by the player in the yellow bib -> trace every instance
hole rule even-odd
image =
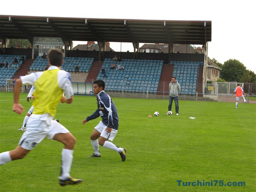
[[[26,125],[26,131],[21,136],[19,145],[25,150],[33,150],[45,137],[53,140],[56,134],[68,132],[68,129],[57,121],[51,120],[50,125],[48,125],[46,120],[30,116]]]

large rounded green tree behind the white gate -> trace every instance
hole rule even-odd
[[[226,81],[243,81],[243,75],[246,72],[246,67],[238,60],[229,59],[224,62],[220,77]]]

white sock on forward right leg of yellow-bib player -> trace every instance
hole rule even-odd
[[[74,150],[63,149],[61,153],[61,171],[60,171],[60,180],[65,180],[70,176],[70,169],[73,161],[73,152]]]

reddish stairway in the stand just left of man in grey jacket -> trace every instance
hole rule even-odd
[[[173,75],[173,65],[163,64],[162,75],[158,83],[157,95],[163,95],[163,82],[164,82],[164,92],[165,95],[169,94],[169,83],[171,82],[171,77]]]

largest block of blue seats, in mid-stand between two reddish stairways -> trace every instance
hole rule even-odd
[[[118,62],[105,59],[102,67],[105,67],[107,77],[103,77],[101,71],[97,79],[106,82],[105,90],[127,92],[157,92],[158,82],[163,67],[162,60],[133,60],[124,59],[120,65],[124,70],[110,70],[110,65]]]

